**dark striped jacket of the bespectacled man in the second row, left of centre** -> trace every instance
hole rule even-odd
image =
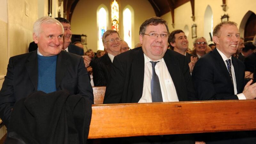
[[[93,60],[91,66],[94,86],[106,86],[112,69],[112,62],[108,54]]]

